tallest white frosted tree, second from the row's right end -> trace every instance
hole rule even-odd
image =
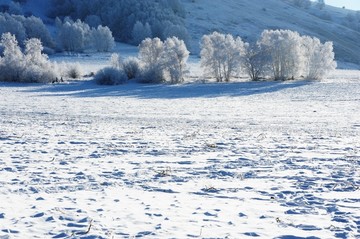
[[[258,44],[271,58],[271,71],[275,80],[301,76],[304,57],[299,33],[290,30],[265,30]]]

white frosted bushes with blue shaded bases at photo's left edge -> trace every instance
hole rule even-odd
[[[36,38],[25,42],[25,51],[21,51],[14,35],[4,33],[1,37],[4,48],[0,57],[0,81],[41,82],[56,81],[57,74],[47,55],[42,54],[43,46]]]

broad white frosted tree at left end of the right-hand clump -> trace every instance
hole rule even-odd
[[[201,66],[218,82],[230,81],[240,72],[245,43],[240,37],[214,32],[201,40]]]

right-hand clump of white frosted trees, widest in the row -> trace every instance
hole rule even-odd
[[[217,81],[245,72],[252,80],[319,80],[336,68],[332,42],[290,30],[265,30],[256,44],[214,32],[201,43],[201,66]]]

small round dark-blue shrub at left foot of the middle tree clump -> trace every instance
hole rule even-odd
[[[119,85],[128,80],[124,71],[112,67],[101,69],[96,73],[94,79],[99,85]]]

